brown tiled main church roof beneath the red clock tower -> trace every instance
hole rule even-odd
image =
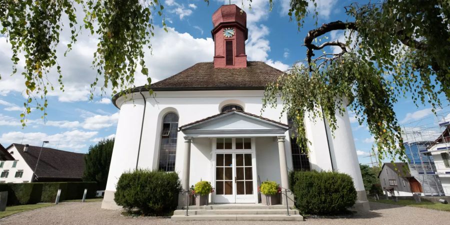
[[[199,62],[151,84],[153,90],[264,89],[283,72],[262,61],[247,61],[246,68],[214,68]]]

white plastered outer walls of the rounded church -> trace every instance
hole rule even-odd
[[[142,94],[146,96],[146,108],[138,161],[138,167],[140,168],[158,168],[162,117],[168,112],[175,112],[179,116],[178,126],[181,126],[217,114],[220,112],[220,107],[225,104],[237,103],[246,112],[262,115],[263,117],[287,124],[285,113],[279,118],[281,104],[276,108],[266,108],[261,114],[263,90],[159,91],[155,92],[154,97],[149,96],[147,92],[142,92]],[[117,105],[120,107],[120,116],[106,190],[115,191],[115,183],[120,174],[135,167],[142,124],[143,102],[139,93],[134,93],[134,103],[130,99],[128,97],[128,100],[124,101],[123,97],[120,97],[117,100]],[[347,121],[344,120],[345,118]],[[339,126],[339,130],[336,130],[336,133],[340,133],[340,129],[344,129],[344,131],[341,136],[336,137],[334,145],[341,144],[339,148],[336,148],[336,152],[338,150],[337,153],[344,154],[342,157],[346,157],[344,161],[338,163],[338,170],[349,173],[352,177],[356,174],[356,178],[353,177],[357,181],[355,186],[357,190],[361,190],[362,179],[357,177],[358,174],[360,177],[360,171],[357,158],[355,157],[356,151],[347,115],[345,114],[342,118],[338,118],[338,123],[342,128]],[[318,119],[316,123],[305,120],[305,124],[308,138],[312,143],[310,146],[312,168],[316,170],[331,170],[323,120]],[[185,152],[183,135],[182,132],[178,132],[175,159],[175,171],[180,175],[183,167],[182,158]],[[291,169],[292,159],[287,131],[285,135],[287,166],[288,169]],[[194,138],[191,146],[191,184],[202,177],[211,177],[211,165],[208,164],[208,160],[211,157],[209,141],[210,139],[207,138]],[[264,180],[268,178],[280,182],[276,140],[258,137],[256,138],[255,146],[257,170],[260,178]],[[342,151],[342,146],[345,147],[345,151]],[[204,149],[199,150],[200,148]],[[348,171],[346,170],[347,168]]]

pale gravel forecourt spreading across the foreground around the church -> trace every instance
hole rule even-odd
[[[100,208],[101,202],[62,202],[1,219],[0,224],[192,224],[214,225],[224,221],[171,222],[170,218],[128,217]],[[370,202],[371,211],[351,218],[311,218],[301,224],[449,224],[450,212]],[[226,224],[297,224],[298,222],[226,221]]]

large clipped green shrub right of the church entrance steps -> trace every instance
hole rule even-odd
[[[295,206],[302,213],[341,214],[356,201],[352,178],[339,172],[297,171],[290,173]]]

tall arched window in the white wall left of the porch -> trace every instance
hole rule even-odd
[[[175,171],[176,137],[178,115],[169,112],[162,119],[161,143],[159,145],[159,170]]]

